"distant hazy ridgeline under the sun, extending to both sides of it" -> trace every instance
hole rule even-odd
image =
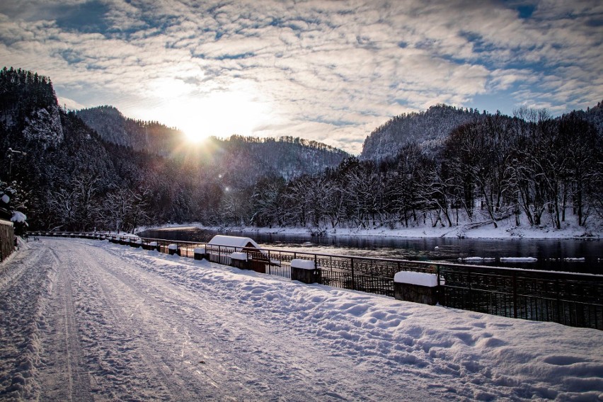
[[[83,109],[76,115],[105,142],[177,159],[196,157],[199,161],[193,163],[219,175],[236,176],[237,183],[249,184],[261,176],[282,176],[288,180],[314,174],[337,166],[350,156],[325,144],[292,137],[212,137],[205,143],[183,149],[181,144],[187,139],[179,130],[158,122],[130,119],[113,106]]]

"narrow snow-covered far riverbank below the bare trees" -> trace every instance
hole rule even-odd
[[[599,240],[603,238],[603,227],[578,226],[564,224],[562,229],[552,226],[515,226],[510,223],[500,222],[498,227],[492,223],[481,222],[464,224],[453,227],[418,226],[409,228],[389,229],[387,227],[364,228],[316,228],[316,227],[257,227],[257,226],[206,226],[198,223],[166,224],[149,226],[146,229],[169,228],[194,228],[207,229],[227,233],[229,231],[243,231],[259,234],[314,234],[315,236],[362,236],[362,237],[396,237],[408,239],[456,238],[456,239],[587,239]]]

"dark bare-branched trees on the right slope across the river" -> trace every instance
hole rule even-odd
[[[587,233],[603,221],[602,137],[582,112],[481,115],[455,127],[437,151],[406,142],[394,157],[348,159],[262,193],[258,216],[326,228],[505,222],[577,224]]]

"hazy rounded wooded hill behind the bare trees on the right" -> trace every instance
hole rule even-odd
[[[454,128],[483,115],[478,110],[435,105],[425,112],[393,117],[364,140],[360,159],[387,159],[411,142],[427,149],[438,147]]]

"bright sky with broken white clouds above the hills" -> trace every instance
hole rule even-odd
[[[50,76],[67,108],[352,153],[391,116],[436,103],[596,105],[602,40],[600,0],[0,4],[1,64]]]

